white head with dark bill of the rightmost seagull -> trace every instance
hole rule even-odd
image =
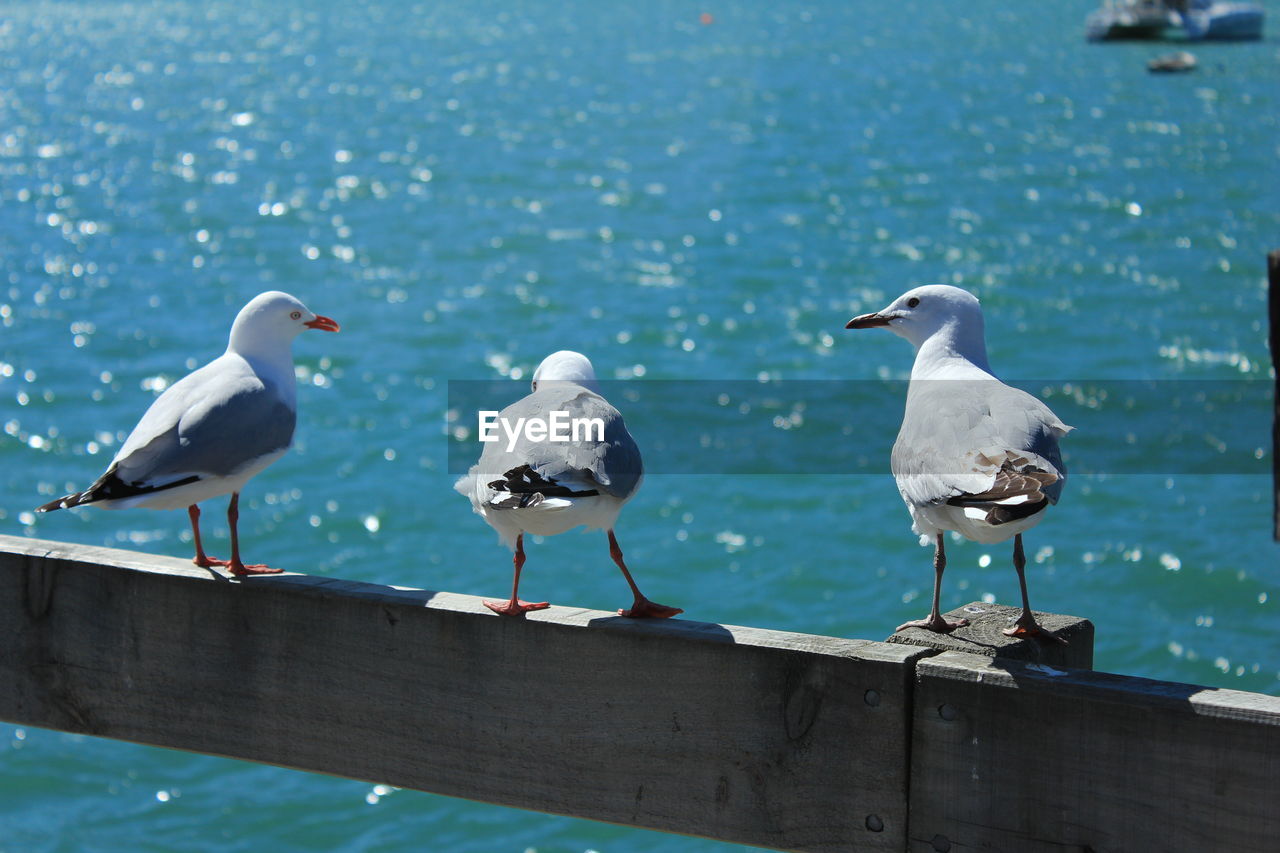
[[[978,297],[950,284],[910,289],[879,311],[855,316],[845,328],[886,328],[910,341],[916,350],[933,336],[943,333],[951,348],[974,361],[987,361]]]

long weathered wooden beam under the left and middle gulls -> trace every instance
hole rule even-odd
[[[0,537],[0,719],[780,849],[904,849],[928,653]]]

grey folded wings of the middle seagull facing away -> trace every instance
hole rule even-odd
[[[644,462],[621,412],[604,397],[576,383],[541,383],[538,391],[502,410],[499,419],[508,424],[516,424],[521,418],[550,420],[556,411],[566,412],[571,420],[599,424],[603,426],[603,441],[595,429],[589,438],[584,433],[579,441],[570,442],[530,441],[521,433],[513,447],[507,450],[507,438],[499,432],[499,441],[490,442],[481,453],[476,475],[498,478],[529,466],[541,480],[570,491],[596,489],[621,500],[631,497],[640,485]],[[526,475],[521,483],[512,485],[530,485],[527,479]],[[554,492],[545,488],[539,491],[554,497]]]

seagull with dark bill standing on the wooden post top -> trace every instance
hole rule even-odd
[[[1039,524],[1062,493],[1066,467],[1057,439],[1071,428],[1043,402],[992,374],[982,307],[968,291],[918,287],[845,328],[884,328],[915,347],[891,469],[920,544],[934,542],[933,610],[897,630],[950,633],[969,624],[947,620],[938,610],[947,561],[942,534],[955,530],[984,544],[1014,538],[1023,612],[1005,634],[1065,642],[1036,622],[1027,601],[1023,532]]]

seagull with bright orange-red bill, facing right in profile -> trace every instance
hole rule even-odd
[[[166,388],[124,439],[102,476],[83,492],[65,494],[36,511],[84,505],[104,510],[187,507],[197,566],[227,566],[233,575],[283,571],[241,560],[236,532],[239,493],[293,442],[293,338],[305,329],[338,328],[288,293],[259,293],[236,315],[227,352]],[[210,557],[200,540],[197,503],[220,494],[232,496],[227,507],[230,560]]]

